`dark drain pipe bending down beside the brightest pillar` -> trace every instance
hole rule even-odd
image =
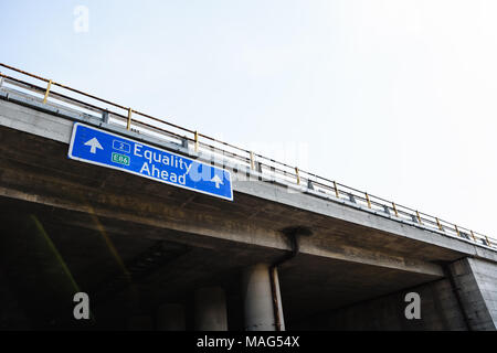
[[[274,322],[275,322],[276,331],[282,331],[282,319],[281,319],[281,312],[279,312],[281,298],[278,298],[278,285],[279,284],[276,284],[276,281],[277,281],[276,274],[277,274],[278,266],[283,265],[286,261],[289,261],[290,259],[293,259],[294,257],[297,256],[297,254],[300,249],[300,245],[298,243],[299,235],[313,234],[309,229],[307,229],[305,227],[300,227],[300,226],[288,227],[288,228],[283,229],[282,232],[283,232],[283,234],[285,234],[288,237],[288,239],[290,242],[292,250],[269,266],[271,292],[273,296]]]

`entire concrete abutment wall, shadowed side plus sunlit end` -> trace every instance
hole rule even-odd
[[[496,330],[497,265],[463,258],[450,277],[309,318],[299,329],[316,330]],[[451,284],[451,279],[453,284]],[[421,319],[408,320],[408,292],[421,297]]]

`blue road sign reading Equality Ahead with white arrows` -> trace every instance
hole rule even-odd
[[[68,158],[233,201],[228,170],[80,122],[74,124]]]

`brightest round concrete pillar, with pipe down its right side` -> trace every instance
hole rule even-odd
[[[274,270],[281,330],[285,330],[277,270]],[[245,269],[242,276],[242,293],[246,331],[275,331],[273,291],[269,265],[257,264]]]

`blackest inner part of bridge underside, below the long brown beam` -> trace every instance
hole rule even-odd
[[[222,286],[230,328],[242,329],[241,271],[283,255],[221,240],[202,244],[194,234],[7,197],[0,207],[2,279],[15,298],[3,304],[13,308],[19,301],[40,328],[51,327],[52,320],[55,325],[74,323],[72,297],[77,291],[89,295],[105,328],[125,329],[131,314],[154,313],[163,302],[188,307],[195,289]],[[307,315],[434,279],[306,254],[279,270],[288,328]]]

